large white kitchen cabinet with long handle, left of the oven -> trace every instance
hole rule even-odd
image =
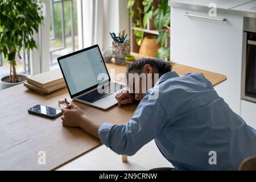
[[[185,13],[209,17],[208,11],[171,7],[171,60],[226,75],[215,89],[240,114],[243,17],[217,11],[216,18],[226,18],[221,22]]]

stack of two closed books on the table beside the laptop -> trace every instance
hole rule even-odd
[[[55,90],[66,87],[60,69],[55,69],[46,73],[31,76],[24,82],[24,86],[40,94],[48,94]]]

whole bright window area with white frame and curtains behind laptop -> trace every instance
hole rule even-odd
[[[111,46],[109,32],[118,32],[124,24],[119,20],[119,1],[40,0],[46,5],[44,26],[35,40],[38,50],[31,51],[33,75],[59,68],[57,57],[98,44],[102,50]],[[111,3],[110,3],[111,2]],[[127,13],[127,26],[129,18]],[[121,23],[119,23],[121,22]],[[27,67],[30,67],[28,64]],[[1,67],[0,67],[1,69]]]

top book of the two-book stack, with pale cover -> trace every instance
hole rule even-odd
[[[46,73],[41,73],[39,75],[31,76],[27,78],[29,84],[38,86],[39,88],[48,88],[60,83],[64,83],[63,75],[60,69],[55,69]]]

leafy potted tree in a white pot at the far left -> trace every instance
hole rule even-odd
[[[16,73],[16,56],[20,58],[23,43],[26,50],[37,48],[33,38],[43,22],[41,6],[33,0],[2,0],[0,2],[0,52],[10,64],[10,75],[0,78],[0,89],[24,82]]]

